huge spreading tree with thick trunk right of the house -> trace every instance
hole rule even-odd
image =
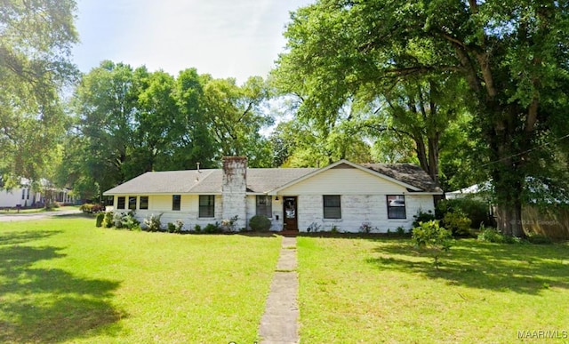
[[[551,143],[564,140],[553,124],[568,116],[568,15],[565,1],[320,0],[293,13],[279,67],[320,116],[390,80],[461,77],[499,227],[523,236],[528,177],[562,180],[547,166],[563,165]]]

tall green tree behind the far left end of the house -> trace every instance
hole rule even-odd
[[[127,174],[132,169],[125,162],[132,153],[140,79],[146,76],[146,68],[135,73],[128,65],[103,61],[77,86],[73,134],[74,142],[84,146],[76,178],[87,177],[101,192],[134,176]]]

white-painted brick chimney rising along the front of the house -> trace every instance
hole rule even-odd
[[[237,216],[235,229],[245,227],[247,217],[247,158],[244,156],[223,157],[223,220]]]

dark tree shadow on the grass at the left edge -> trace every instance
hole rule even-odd
[[[22,244],[56,233],[2,236],[0,342],[73,340],[99,332],[125,316],[110,302],[119,282],[73,276],[60,268],[35,267],[40,260],[66,255],[57,247]]]

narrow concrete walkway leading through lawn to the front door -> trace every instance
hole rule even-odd
[[[283,237],[265,314],[260,318],[260,342],[299,343],[299,277],[296,272],[296,237]]]

